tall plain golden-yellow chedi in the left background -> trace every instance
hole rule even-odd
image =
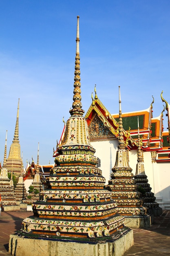
[[[9,157],[7,159],[7,169],[9,172],[11,172],[13,169],[13,174],[16,177],[20,176],[20,170],[22,165],[21,149],[20,149],[20,141],[19,141],[19,103],[20,103],[20,99],[18,100],[17,119],[16,119],[13,142],[11,144],[11,147],[9,150]]]

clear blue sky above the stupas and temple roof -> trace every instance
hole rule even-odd
[[[20,98],[23,162],[53,163],[73,103],[76,25],[80,16],[82,106],[97,95],[117,113],[150,106],[153,117],[170,103],[169,0],[0,0],[0,160],[13,140]],[[94,95],[94,94],[93,94]],[[167,120],[164,112],[164,127]]]

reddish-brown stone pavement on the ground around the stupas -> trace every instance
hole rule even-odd
[[[8,253],[9,235],[21,228],[24,218],[32,212],[6,211],[0,216],[0,256]],[[154,218],[152,227],[134,230],[134,246],[124,256],[167,256],[170,255],[170,211],[164,210],[161,216]],[[48,256],[48,254],[47,254]]]

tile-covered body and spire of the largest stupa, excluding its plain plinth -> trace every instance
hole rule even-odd
[[[22,222],[22,234],[27,237],[113,241],[129,231],[124,226],[124,217],[118,214],[112,192],[104,189],[105,178],[96,166],[95,149],[83,117],[79,59],[78,16],[71,117],[54,153],[49,188],[32,204],[34,216]]]

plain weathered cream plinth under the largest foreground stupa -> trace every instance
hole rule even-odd
[[[73,241],[69,238],[50,239],[26,237],[26,233],[10,235],[9,253],[15,256],[123,256],[134,244],[133,231],[126,230],[117,239]]]

